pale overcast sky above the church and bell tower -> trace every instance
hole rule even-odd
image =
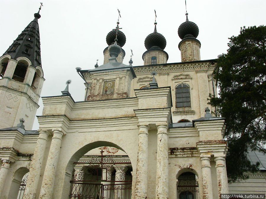
[[[83,101],[85,86],[75,68],[93,69],[103,64],[103,50],[107,47],[106,35],[116,27],[118,11],[120,27],[126,35],[124,64],[133,50],[133,65],[143,65],[146,51],[144,40],[153,32],[157,13],[157,31],[166,38],[165,51],[168,63],[181,61],[177,34],[185,22],[185,1],[56,1],[42,0],[43,7],[38,20],[40,27],[41,61],[46,81],[41,96],[58,96],[65,82],[72,80],[69,91],[75,101]],[[237,36],[240,27],[265,25],[265,0],[187,0],[189,21],[199,27],[197,39],[201,42],[201,60],[215,59],[226,53],[228,37]],[[0,54],[4,53],[34,19],[40,3],[30,0],[0,0]],[[37,115],[42,113],[42,100]],[[35,121],[33,129],[38,129]]]

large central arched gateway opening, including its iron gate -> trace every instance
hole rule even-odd
[[[121,147],[112,142],[97,141],[80,148],[71,157],[66,176],[69,176],[71,169],[72,175],[69,178],[71,185],[64,183],[64,187],[70,187],[68,192],[70,194],[64,197],[131,198],[130,159]]]

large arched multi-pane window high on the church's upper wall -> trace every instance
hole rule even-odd
[[[191,106],[189,86],[186,84],[179,84],[176,86],[176,108],[189,106]]]

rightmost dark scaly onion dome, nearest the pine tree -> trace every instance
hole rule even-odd
[[[183,40],[186,37],[197,38],[199,35],[199,28],[194,22],[190,22],[186,13],[186,22],[182,23],[178,28],[178,36]]]

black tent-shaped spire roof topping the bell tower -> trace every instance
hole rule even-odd
[[[43,4],[41,3],[41,6]],[[40,58],[40,33],[38,19],[40,19],[40,9],[34,14],[34,19],[19,34],[16,40],[3,55],[10,55],[12,59],[27,57],[32,66],[41,66]]]

